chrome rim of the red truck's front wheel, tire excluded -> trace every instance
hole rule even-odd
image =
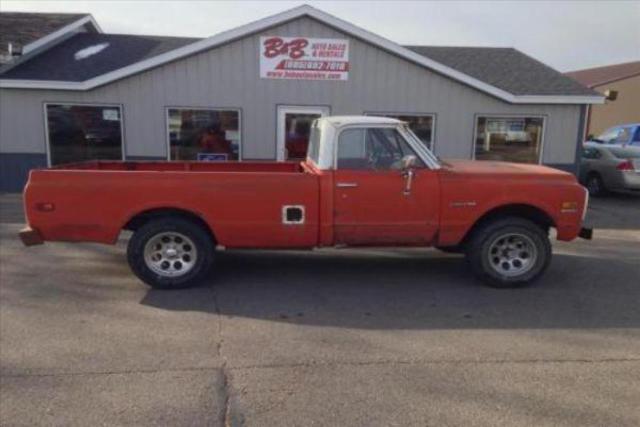
[[[516,277],[530,271],[538,259],[538,249],[530,237],[509,233],[489,246],[489,265],[501,276]]]

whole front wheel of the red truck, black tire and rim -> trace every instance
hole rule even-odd
[[[535,251],[528,249],[531,252],[527,255],[529,260],[524,259],[528,269],[523,270],[522,274],[517,274],[518,269],[514,264],[510,264],[519,262],[522,267],[523,260],[520,258],[507,262],[500,261],[501,256],[511,257],[511,251],[521,250],[516,249],[515,246],[513,249],[498,249],[500,239],[503,239],[505,245],[509,244],[506,236],[516,236],[516,239],[524,240],[527,247],[535,247]],[[498,252],[506,251],[509,254],[498,253],[496,256],[492,252],[496,249]],[[525,254],[526,252],[521,252],[518,257]],[[494,288],[516,288],[532,283],[547,269],[551,261],[551,243],[547,231],[536,223],[519,217],[504,217],[487,222],[474,231],[467,245],[466,257],[473,274],[484,284]]]

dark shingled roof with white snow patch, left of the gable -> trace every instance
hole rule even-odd
[[[82,82],[177,49],[199,39],[79,33],[11,68],[3,79]],[[79,52],[95,53],[83,55]]]

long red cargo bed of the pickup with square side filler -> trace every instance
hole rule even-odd
[[[31,171],[28,222],[44,240],[114,243],[142,213],[201,218],[226,247],[312,247],[318,243],[319,179],[298,163],[93,161]],[[304,206],[284,224],[283,206]]]

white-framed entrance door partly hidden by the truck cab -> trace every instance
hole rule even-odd
[[[278,161],[307,157],[311,122],[329,115],[329,107],[278,106]]]

